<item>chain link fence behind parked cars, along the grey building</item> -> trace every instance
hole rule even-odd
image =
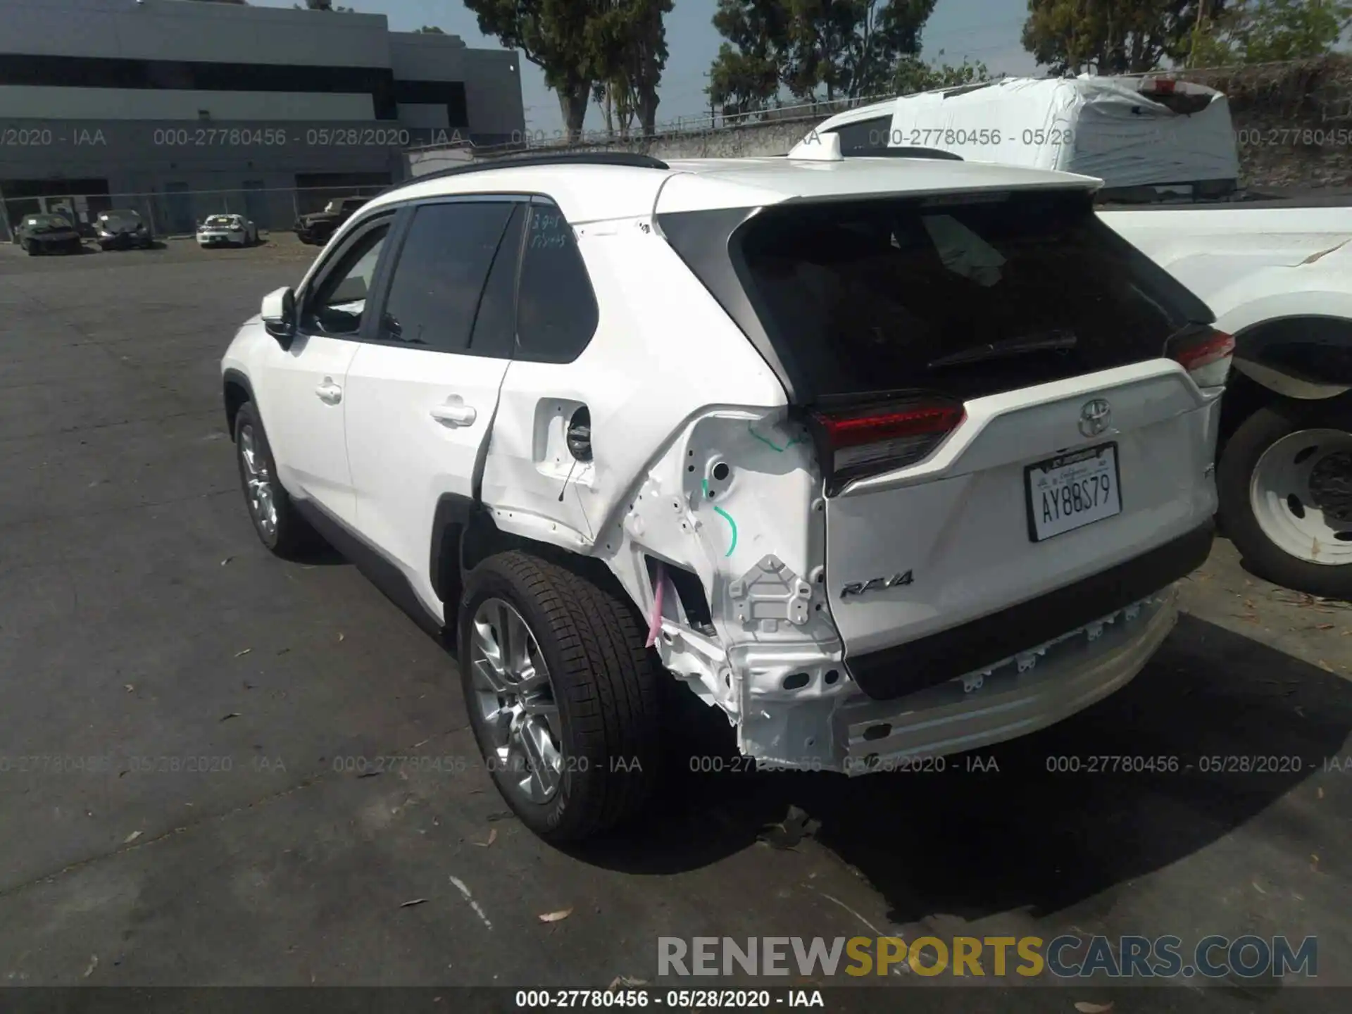
[[[237,214],[262,233],[289,233],[296,219],[341,197],[373,197],[388,184],[331,187],[245,187],[239,189],[164,189],[147,193],[0,195],[0,239],[15,242],[26,215],[64,215],[87,237],[103,211],[135,211],[157,237],[192,235],[208,215]]]

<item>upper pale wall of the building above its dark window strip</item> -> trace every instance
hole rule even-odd
[[[0,49],[124,59],[389,66],[384,15],[195,0],[0,0]]]

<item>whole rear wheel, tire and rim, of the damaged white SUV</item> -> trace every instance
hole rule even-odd
[[[658,671],[618,587],[541,557],[489,557],[465,580],[461,684],[484,764],[541,838],[638,815],[658,758]]]

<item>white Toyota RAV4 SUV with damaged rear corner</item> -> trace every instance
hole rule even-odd
[[[262,542],[458,644],[541,836],[641,807],[662,680],[854,775],[1065,718],[1174,626],[1229,338],[1096,180],[899,154],[415,178],[230,345]]]

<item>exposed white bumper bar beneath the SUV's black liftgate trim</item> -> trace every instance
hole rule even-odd
[[[859,698],[833,715],[834,760],[849,775],[888,771],[1060,722],[1126,685],[1176,622],[1171,585],[990,672],[899,700]]]

